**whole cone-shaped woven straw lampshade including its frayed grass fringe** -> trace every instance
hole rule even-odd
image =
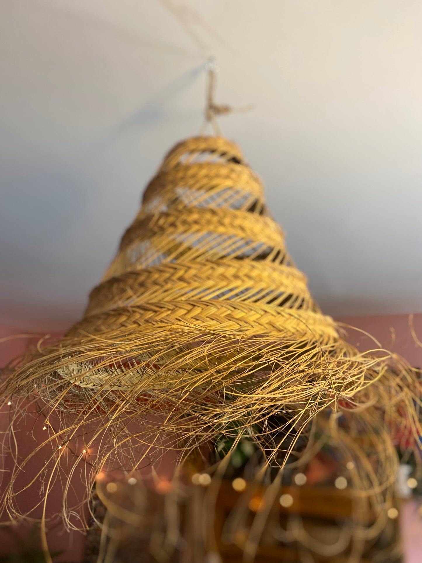
[[[33,403],[55,425],[54,444],[88,426],[84,450],[102,437],[88,486],[113,456],[124,452],[133,470],[141,463],[134,444],[164,439],[182,462],[218,435],[234,443],[248,435],[268,464],[282,467],[321,419],[347,455],[363,455],[351,443],[359,428],[375,429],[385,471],[368,470],[361,481],[379,492],[394,480],[387,429],[421,434],[415,373],[387,351],[358,352],[321,313],[261,181],[223,137],[189,138],[169,152],[83,319],[11,368],[2,385],[11,427]],[[350,420],[347,432],[337,413]],[[140,430],[129,431],[131,421]],[[75,452],[74,464],[82,458]],[[16,477],[29,459],[3,498],[12,516]]]

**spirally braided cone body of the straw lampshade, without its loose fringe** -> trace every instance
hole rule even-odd
[[[315,342],[334,350],[339,341],[333,320],[318,310],[286,252],[261,181],[239,148],[220,137],[188,139],[165,158],[118,255],[92,291],[84,319],[68,337],[81,333],[137,344],[123,362],[96,361],[95,368],[86,361],[66,363],[57,368],[61,376],[83,387],[127,391],[143,381],[141,394],[160,394],[165,381],[166,405],[175,397],[178,403],[183,391],[196,399],[198,392],[210,392],[218,403],[221,385],[234,374],[244,379],[242,371],[262,395],[263,368],[270,379],[276,373],[275,359],[264,359],[268,346]],[[206,360],[199,356],[205,346]],[[258,377],[251,363],[257,352]],[[220,368],[214,359],[222,353]],[[210,369],[219,382],[209,374],[198,385]],[[181,391],[181,381],[191,388]],[[269,388],[272,394],[273,381]],[[230,384],[228,391],[234,391]]]

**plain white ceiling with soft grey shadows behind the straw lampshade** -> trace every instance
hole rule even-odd
[[[0,321],[65,328],[164,153],[220,121],[333,315],[422,311],[420,0],[0,0]]]

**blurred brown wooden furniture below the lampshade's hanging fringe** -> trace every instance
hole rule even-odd
[[[132,489],[133,490],[133,489]],[[126,530],[112,556],[101,559],[101,563],[399,563],[398,520],[388,520],[383,533],[363,546],[363,557],[350,558],[352,542],[345,525],[352,516],[352,500],[347,490],[334,487],[294,486],[277,490],[271,507],[264,511],[264,491],[249,486],[241,493],[236,492],[231,481],[223,481],[219,489],[214,512],[213,538],[203,541],[203,515],[206,511],[208,489],[196,486],[191,495],[179,504],[180,540],[171,545],[166,535],[173,534],[165,528],[164,497],[150,491],[149,508],[141,526]],[[283,507],[280,495],[290,495],[291,505]],[[265,498],[265,497],[264,497]],[[116,499],[118,500],[118,499]],[[97,498],[92,506],[98,521],[105,516],[104,505]],[[267,507],[268,508],[268,507]],[[251,537],[259,516],[263,517],[262,533],[257,548],[252,546]],[[365,515],[363,515],[365,516]],[[366,515],[368,516],[368,515]],[[235,521],[234,521],[235,520]],[[365,518],[363,519],[365,520]],[[370,521],[370,516],[369,516]],[[255,523],[254,523],[255,522]],[[343,532],[341,531],[343,528]],[[296,534],[292,530],[296,529]],[[252,534],[251,534],[252,530]],[[301,530],[317,541],[317,549],[307,549],[298,537]],[[303,533],[303,532],[302,532]],[[342,535],[343,534],[343,535]],[[84,563],[97,563],[100,549],[101,530],[92,524],[88,531]],[[176,532],[176,536],[178,532]],[[339,542],[339,538],[341,539]],[[248,543],[249,542],[249,543]],[[338,542],[338,548],[333,544]],[[253,543],[253,542],[252,542]],[[155,544],[155,547],[154,547]],[[176,548],[174,546],[177,545]],[[158,546],[158,548],[156,547]],[[319,546],[319,547],[318,547]],[[328,551],[324,552],[324,546]],[[327,549],[325,549],[327,551]],[[151,555],[152,552],[152,555]]]

